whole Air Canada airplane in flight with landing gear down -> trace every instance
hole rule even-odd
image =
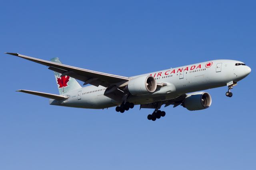
[[[120,113],[140,105],[140,109],[154,109],[147,117],[152,121],[166,115],[160,110],[162,105],[181,105],[189,111],[207,109],[212,98],[203,91],[206,89],[227,86],[226,96],[232,97],[231,89],[251,72],[241,61],[217,59],[124,77],[64,65],[58,57],[46,61],[18,53],[6,54],[48,66],[54,71],[60,95],[29,90],[19,92],[49,98],[50,105],[86,109],[116,107]],[[87,86],[82,87],[76,79]]]

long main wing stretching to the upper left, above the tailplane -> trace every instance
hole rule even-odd
[[[21,55],[18,53],[6,53],[10,55],[15,55],[30,61],[34,61],[36,63],[40,63],[42,65],[49,66],[50,70],[56,71],[58,73],[61,73],[62,76],[68,75],[70,77],[73,77],[75,79],[84,81],[84,85],[91,84],[95,86],[102,85],[104,87],[110,87],[110,86],[117,86],[122,87],[127,84],[129,81],[129,77],[123,77],[119,75],[112,75],[107,73],[101,73],[98,71],[92,71],[88,69],[82,69],[78,67],[73,67],[70,65],[64,65],[60,63],[54,63],[51,61],[46,61],[43,59],[37,59],[33,57],[28,57],[26,55]]]

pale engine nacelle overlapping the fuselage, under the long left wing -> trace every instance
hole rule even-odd
[[[156,91],[156,80],[151,75],[144,75],[130,79],[127,87],[132,95],[146,95]]]

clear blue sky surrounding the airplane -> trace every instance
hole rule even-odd
[[[255,1],[2,1],[0,10],[0,169],[256,169]],[[225,96],[206,90],[202,111],[135,106],[76,109],[18,89],[58,94],[47,67],[17,52],[132,76],[212,59],[252,72]]]

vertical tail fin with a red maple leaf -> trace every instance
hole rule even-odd
[[[55,62],[55,63],[62,64],[58,57],[52,58],[51,61]],[[55,72],[55,71],[54,71],[54,75],[55,75],[55,79],[56,79],[56,82],[57,82],[57,86],[58,86],[58,90],[59,90],[60,95],[62,95],[64,93],[67,93],[69,91],[72,91],[74,89],[81,88],[81,85],[76,81],[76,79],[74,79],[72,77],[69,77],[67,75],[63,76],[63,77],[60,77],[61,73],[58,73],[58,72]]]

